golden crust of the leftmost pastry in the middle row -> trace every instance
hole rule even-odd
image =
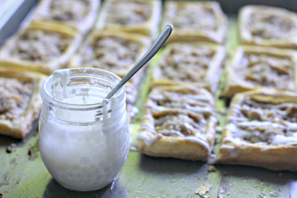
[[[29,31],[41,31],[44,34],[58,34],[61,38],[69,39],[69,44],[61,55],[51,58],[49,61],[31,61],[12,57],[10,53],[15,49],[20,38]],[[73,28],[58,24],[46,24],[42,22],[31,23],[26,29],[20,30],[16,35],[10,37],[0,50],[0,64],[10,67],[19,67],[50,75],[57,69],[62,69],[68,63],[70,57],[78,49],[82,36]],[[48,49],[46,49],[48,50]]]

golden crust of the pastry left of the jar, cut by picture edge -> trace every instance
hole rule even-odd
[[[41,104],[40,90],[46,75],[0,66],[0,77],[17,79],[20,82],[32,83],[33,85],[32,94],[24,113],[19,115],[19,118],[0,119],[0,134],[23,139],[31,131],[33,122],[39,116]]]

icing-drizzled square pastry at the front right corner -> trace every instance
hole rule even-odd
[[[297,93],[258,89],[230,104],[217,163],[297,170]]]

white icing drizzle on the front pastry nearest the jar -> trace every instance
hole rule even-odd
[[[149,94],[149,100],[144,107],[149,108],[154,112],[162,112],[162,111],[170,112],[170,110],[172,109],[182,109],[182,110],[188,109],[193,111],[193,113],[195,112],[202,115],[200,119],[201,126],[207,124],[206,119],[209,119],[214,122],[217,121],[217,119],[214,118],[214,116],[212,115],[214,112],[214,107],[211,105],[214,103],[209,98],[210,96],[198,94],[198,93],[185,94],[180,92],[181,91],[178,92],[177,90],[172,90],[172,91],[154,90]],[[206,115],[208,118],[205,118],[203,115]],[[179,117],[180,115],[175,115],[175,116]],[[203,146],[204,148],[206,148],[210,153],[211,151],[210,145],[203,134],[205,128],[202,127],[201,129],[203,129],[203,131],[197,133],[198,132],[197,130],[201,130],[200,124],[196,123],[196,121],[195,123],[191,123],[191,122],[188,123],[187,119],[191,120],[192,118],[187,117],[187,115],[182,115],[182,117],[179,117],[179,118],[182,119],[182,121],[178,119],[179,121],[176,122],[175,118],[172,118],[172,117],[170,118],[169,116],[168,118],[165,119],[167,123],[165,123],[164,125],[163,123],[164,119],[161,119],[160,121],[156,122],[156,119],[158,120],[159,117],[154,118],[152,115],[144,115],[142,117],[142,124],[139,128],[140,133],[138,134],[137,139],[143,140],[147,146],[150,146],[153,144],[154,141],[157,141],[161,137],[176,137],[190,142],[195,142]],[[149,123],[147,121],[149,121]],[[168,122],[170,123],[171,126],[168,125]],[[191,133],[193,134],[191,133],[184,134],[185,132],[182,132],[181,130],[183,131],[186,130],[188,132],[191,131]],[[150,132],[151,134],[149,134],[148,132]]]

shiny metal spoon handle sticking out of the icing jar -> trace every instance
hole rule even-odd
[[[149,48],[149,50],[140,58],[140,60],[132,67],[132,69],[123,77],[123,79],[109,92],[105,99],[110,99],[127,81],[138,72],[155,54],[159,51],[165,41],[168,39],[172,32],[172,24],[168,24],[162,32],[159,34],[159,37],[156,39],[154,44]]]

